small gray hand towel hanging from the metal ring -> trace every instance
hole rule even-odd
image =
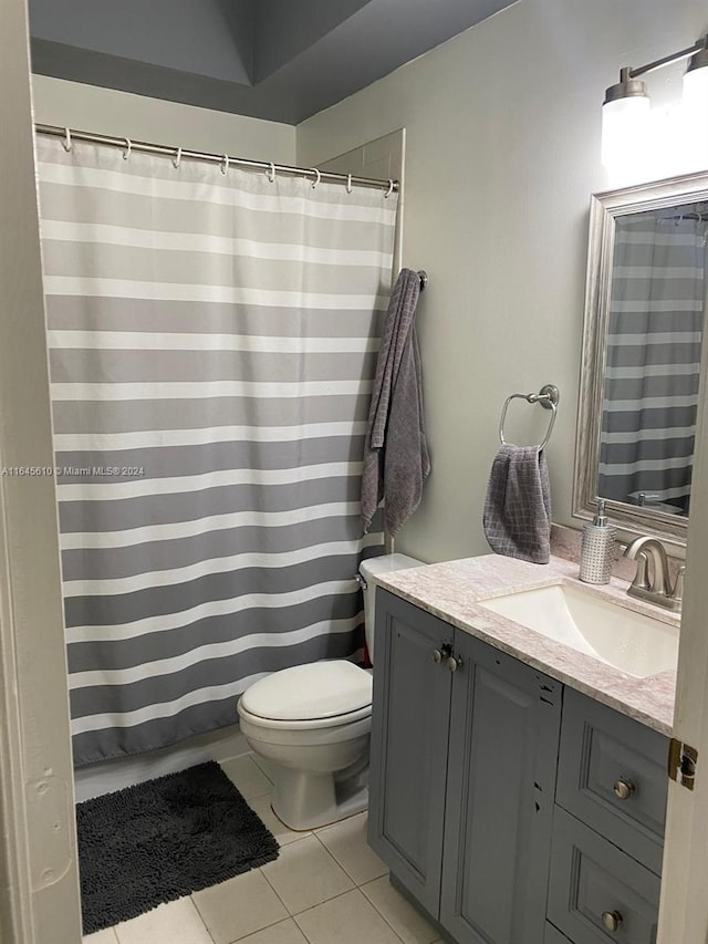
[[[549,562],[551,486],[539,446],[499,449],[489,476],[483,523],[489,546],[498,554]]]

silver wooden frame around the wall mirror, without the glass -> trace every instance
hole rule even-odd
[[[574,518],[589,520],[597,507],[597,466],[615,219],[642,210],[663,209],[697,200],[708,200],[708,172],[606,190],[593,194],[591,197],[583,353],[573,476]],[[706,347],[708,344],[704,345],[701,351],[704,362],[708,356]],[[701,376],[702,373],[701,371]],[[657,535],[678,544],[686,543],[687,517],[668,515],[665,511],[655,511],[611,499],[606,500],[606,508],[612,522],[624,530]]]

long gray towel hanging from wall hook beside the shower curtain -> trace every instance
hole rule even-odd
[[[402,269],[384,321],[376,378],[366,425],[362,474],[364,533],[382,498],[393,537],[420,504],[430,471],[423,423],[420,353],[415,313],[420,279]]]

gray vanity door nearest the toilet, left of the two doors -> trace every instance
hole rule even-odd
[[[368,841],[439,914],[451,674],[434,661],[452,627],[378,589]]]

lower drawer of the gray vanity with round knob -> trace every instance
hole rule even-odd
[[[574,944],[655,944],[660,880],[559,807],[549,920]],[[603,924],[614,915],[615,931]]]

